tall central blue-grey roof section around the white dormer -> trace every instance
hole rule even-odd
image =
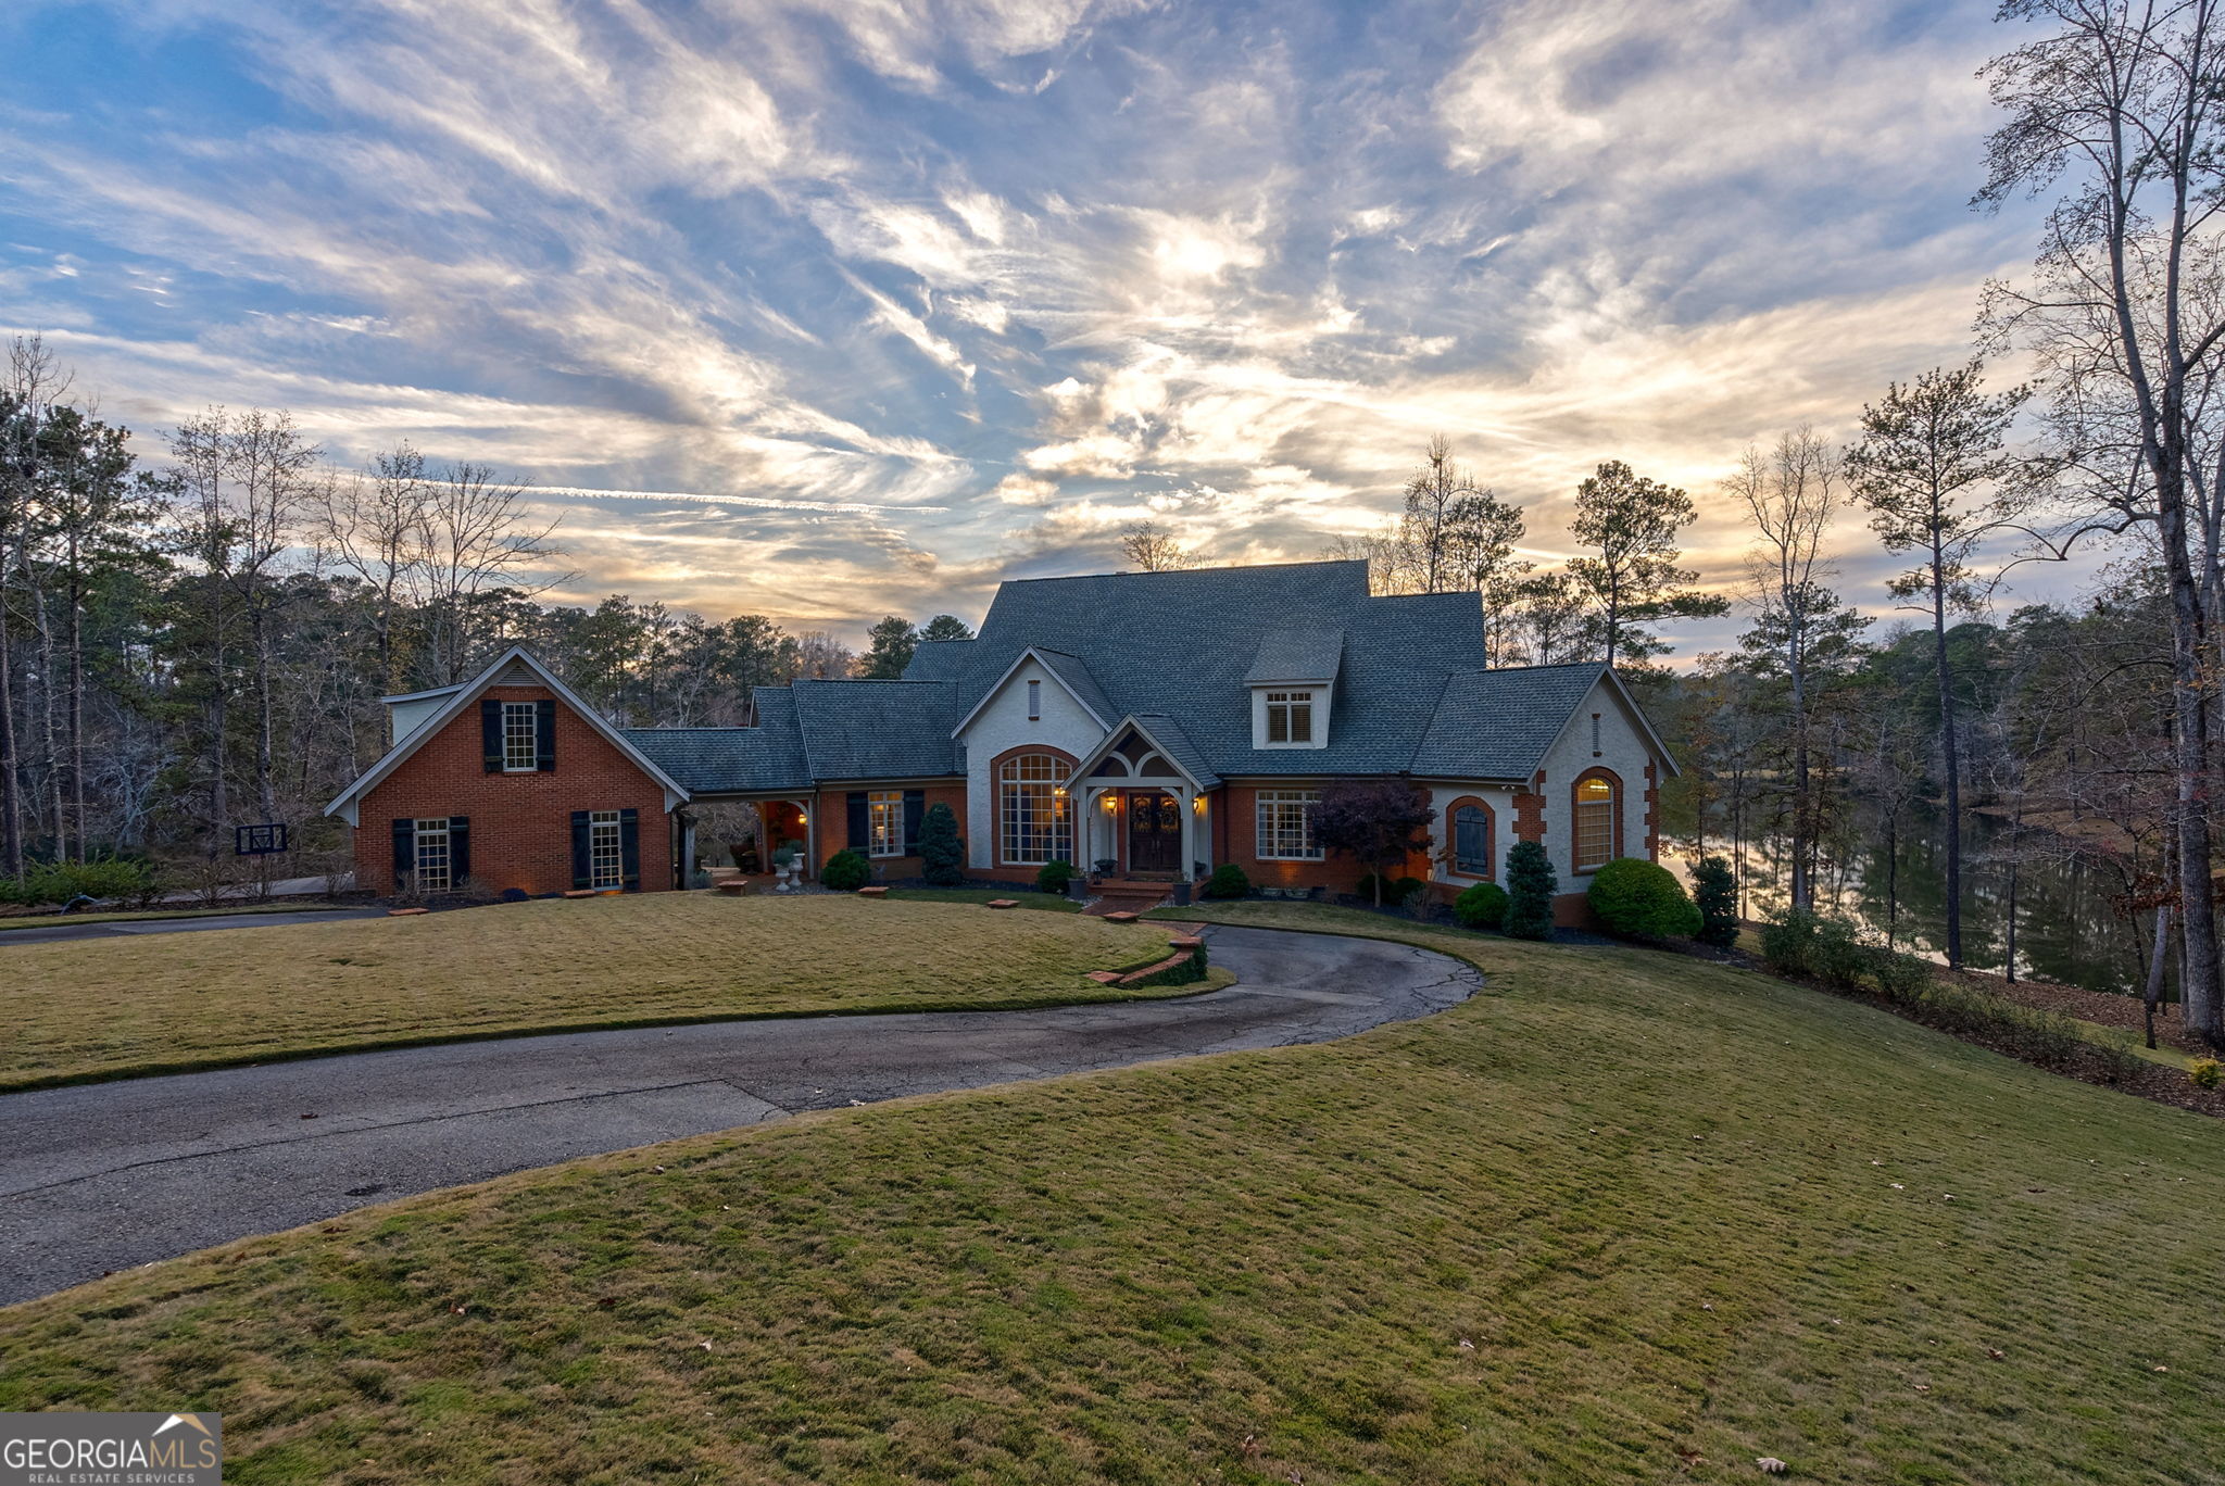
[[[1255,750],[1246,676],[1293,632],[1342,632],[1328,747]],[[1366,563],[1026,578],[997,590],[979,638],[921,645],[906,676],[952,681],[966,716],[1030,645],[1088,665],[1115,719],[1175,719],[1215,774],[1393,774],[1444,678],[1482,656],[1484,621],[1475,594],[1373,598]]]

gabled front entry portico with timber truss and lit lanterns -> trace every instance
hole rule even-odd
[[[1213,792],[1219,783],[1195,761],[1173,719],[1121,719],[1075,765],[1077,845],[1084,856],[1077,865],[1166,879],[1210,872]]]

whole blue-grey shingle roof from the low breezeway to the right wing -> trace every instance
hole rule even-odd
[[[934,641],[903,681],[759,687],[756,727],[632,727],[692,794],[963,772],[959,719],[1028,650],[1090,710],[1135,716],[1202,785],[1230,776],[1526,779],[1602,665],[1477,670],[1475,594],[1371,596],[1366,563],[1286,563],[997,590],[981,636]],[[1255,750],[1253,681],[1331,678],[1326,747]]]

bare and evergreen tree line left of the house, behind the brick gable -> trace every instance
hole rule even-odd
[[[772,618],[710,621],[570,583],[554,523],[487,465],[398,445],[332,469],[283,412],[209,409],[145,465],[38,338],[0,378],[0,888],[40,863],[167,859],[254,876],[234,828],[285,823],[285,868],[340,845],[327,799],[387,747],[378,699],[547,658],[621,723],[750,721],[799,676],[901,674],[890,616],[859,656]]]

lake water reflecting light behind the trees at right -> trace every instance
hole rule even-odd
[[[2031,841],[2034,832],[2025,832]],[[1971,814],[1962,825],[1962,961],[1971,970],[2000,970],[2007,961],[2009,863],[2005,845],[2009,823]],[[1680,843],[1689,845],[1689,843]],[[1887,830],[1876,812],[1856,808],[1842,839],[1816,881],[1816,903],[1836,905],[1871,932],[1885,934],[1891,919],[1893,943],[1945,961],[1947,945],[1947,843],[1936,812],[1909,812],[1900,823],[1898,850],[1887,848]],[[1709,839],[1711,852],[1729,854],[1729,843]],[[1896,865],[1898,863],[1898,865]],[[1689,863],[1678,861],[1689,874]],[[1896,870],[1893,870],[1896,868]],[[1789,881],[1784,841],[1747,843],[1744,912],[1760,919],[1784,903]],[[1887,879],[1898,912],[1887,912]],[[2016,872],[2016,974],[2038,981],[2140,994],[2147,977],[2145,948],[2154,921],[2143,912],[2138,925],[2118,917],[2112,894],[2120,890],[2114,872],[2089,863],[2027,859]],[[2176,990],[2165,990],[2176,999]]]

